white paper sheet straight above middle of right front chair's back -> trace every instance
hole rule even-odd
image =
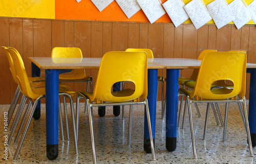
[[[215,0],[208,4],[207,8],[218,29],[234,19],[225,0]]]

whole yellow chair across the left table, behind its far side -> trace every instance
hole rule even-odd
[[[77,47],[54,47],[52,49],[52,58],[82,58],[82,51]],[[84,69],[75,69],[73,74],[60,74],[60,82],[87,82],[87,91],[89,82],[91,83],[91,92],[93,88],[93,79],[86,75]]]

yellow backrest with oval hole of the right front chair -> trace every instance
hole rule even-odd
[[[243,97],[246,87],[246,60],[245,52],[208,53],[202,60],[191,97],[198,96],[206,99],[226,99],[236,95]],[[212,83],[218,80],[232,81],[233,90],[222,88],[221,90],[227,91],[225,94],[218,94],[211,90]]]

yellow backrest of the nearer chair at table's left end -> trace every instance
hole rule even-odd
[[[35,94],[31,89],[22,57],[20,57],[20,55],[14,49],[7,48],[7,51],[10,53],[15,66],[16,79],[20,91],[27,97],[32,99],[37,98],[37,94]]]

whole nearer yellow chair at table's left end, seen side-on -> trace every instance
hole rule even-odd
[[[27,122],[27,125],[24,129],[22,138],[20,139],[20,142],[18,144],[17,150],[14,154],[13,160],[15,161],[17,159],[19,150],[23,144],[23,141],[25,139],[26,133],[28,131],[30,122],[32,120],[33,117],[33,113],[35,111],[35,107],[37,105],[37,102],[42,98],[45,97],[45,88],[40,87],[40,88],[32,88],[27,76],[27,72],[25,70],[24,67],[24,63],[23,60],[20,56],[17,55],[17,53],[15,52],[15,50],[8,48],[7,49],[8,52],[10,53],[13,62],[14,62],[14,66],[15,66],[15,70],[16,70],[16,79],[18,81],[18,85],[20,88],[20,91],[24,94],[24,96],[26,96],[26,98],[28,98],[30,100],[29,104],[31,102],[33,102],[33,107]],[[71,105],[71,114],[72,114],[72,122],[73,122],[73,130],[74,130],[74,141],[75,141],[75,152],[76,154],[78,154],[78,149],[77,149],[77,141],[76,141],[76,132],[75,132],[75,116],[74,116],[74,107],[73,107],[73,99],[72,96],[75,95],[76,93],[73,91],[69,91],[67,88],[64,87],[59,87],[59,95],[60,96],[65,96],[67,98],[70,99],[70,105]],[[27,108],[23,121],[24,122],[26,120],[26,116],[28,113],[29,107]],[[21,125],[22,126],[22,125]]]

